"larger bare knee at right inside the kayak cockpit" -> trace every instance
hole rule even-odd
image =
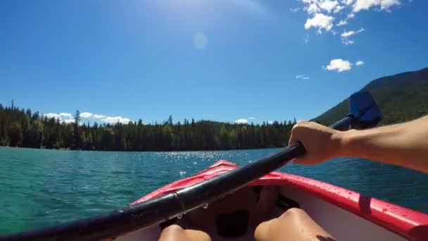
[[[334,240],[301,209],[289,209],[279,218],[260,223],[254,237],[257,241]]]

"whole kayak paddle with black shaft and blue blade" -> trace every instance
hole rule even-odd
[[[353,128],[370,128],[377,125],[382,118],[381,112],[368,92],[357,92],[351,95],[349,105],[348,116],[331,125],[332,128],[344,130],[350,125]],[[275,171],[305,152],[303,145],[293,144],[265,159],[113,214],[1,237],[0,240],[99,240],[117,237],[132,230],[161,223],[203,204],[213,202]]]

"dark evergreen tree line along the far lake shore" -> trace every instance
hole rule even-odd
[[[103,151],[183,151],[284,147],[294,120],[260,124],[191,121],[99,125],[47,118],[30,109],[0,104],[0,145],[46,149]]]

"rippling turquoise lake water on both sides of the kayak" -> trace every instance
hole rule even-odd
[[[0,147],[0,234],[103,214],[225,159],[244,165],[277,149],[82,152]],[[428,213],[428,175],[362,159],[281,169]]]

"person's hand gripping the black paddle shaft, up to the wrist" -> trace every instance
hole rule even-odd
[[[314,165],[339,156],[340,131],[315,122],[299,121],[291,129],[289,144],[301,142],[306,154],[294,163]]]

